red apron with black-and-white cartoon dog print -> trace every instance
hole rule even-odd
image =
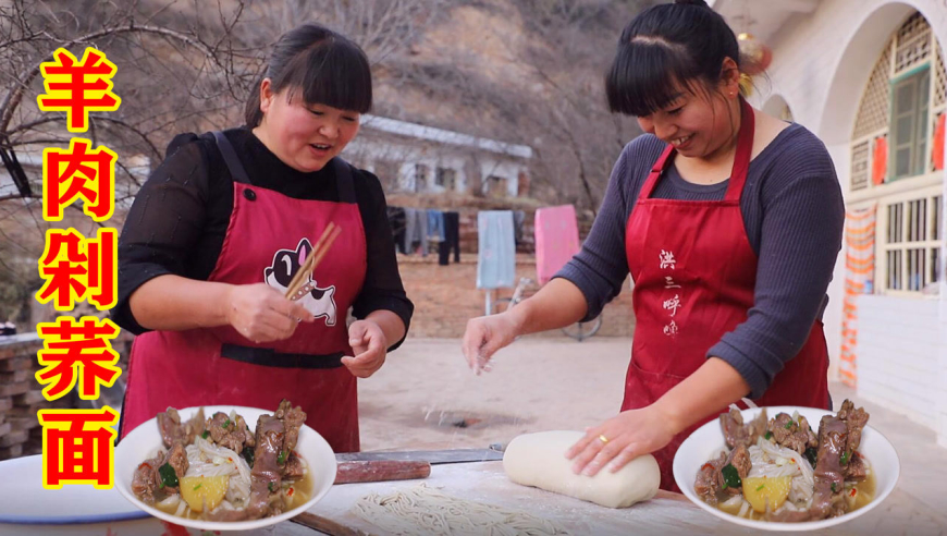
[[[283,398],[306,411],[306,424],[335,452],[357,451],[356,379],[342,366],[352,355],[346,314],[361,290],[366,243],[350,167],[335,158],[339,203],[294,199],[254,186],[233,147],[214,133],[234,178],[230,226],[208,278],[266,282],[285,292],[330,221],[342,234],[313,273],[300,302],[316,321],[284,341],[256,344],[231,326],[150,331],[132,346],[121,437],[169,405],[244,405],[275,411]]]

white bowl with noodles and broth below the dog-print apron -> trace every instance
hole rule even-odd
[[[200,407],[177,410],[181,422],[189,421],[199,410]],[[260,415],[273,415],[275,410],[275,407],[272,410],[261,410],[232,405],[204,406],[206,417],[211,417],[218,412],[224,413],[227,416],[242,416],[250,433],[255,431],[257,419]],[[208,437],[204,439],[212,440],[212,438]],[[204,447],[207,447],[207,443],[204,443]],[[210,497],[214,495],[214,488],[220,487],[219,477],[210,476],[204,479],[201,476],[189,476],[186,477],[186,480],[184,478],[179,479],[179,502],[171,500],[173,499],[170,497],[171,494],[162,494],[161,497],[164,500],[156,500],[153,504],[148,504],[133,491],[132,480],[138,466],[149,459],[153,459],[157,452],[168,450],[159,431],[157,417],[132,430],[115,447],[115,487],[127,500],[149,514],[192,528],[204,531],[249,531],[273,525],[294,517],[311,508],[312,504],[329,492],[329,489],[335,482],[336,462],[332,448],[329,447],[329,443],[322,436],[304,424],[299,427],[298,440],[295,448],[292,449],[292,454],[302,460],[302,464],[305,467],[305,476],[295,482],[284,480],[281,489],[270,489],[271,492],[278,494],[281,500],[286,501],[283,505],[285,510],[279,514],[247,521],[209,521],[206,519],[206,513],[193,511],[188,507],[184,496],[187,494],[187,499],[194,502],[194,496],[206,494],[206,496],[200,497],[199,503],[202,505],[200,508],[207,509],[208,500],[213,500]],[[239,455],[241,453],[237,454]],[[189,456],[192,455],[193,453],[189,454]],[[222,458],[224,460],[218,458],[216,461],[222,465],[227,463],[236,465],[232,460],[226,460],[230,456]],[[210,462],[210,460],[208,461]],[[192,464],[192,468],[198,468],[199,471],[199,464]],[[245,473],[245,470],[246,466],[242,471]],[[237,476],[231,476],[230,478],[237,478]],[[186,486],[185,482],[187,483]],[[214,484],[218,484],[218,486],[214,486]],[[227,494],[232,491],[232,489],[227,490]],[[219,501],[220,499],[217,499],[217,503],[212,505],[214,510],[208,511],[216,511],[220,505]]]

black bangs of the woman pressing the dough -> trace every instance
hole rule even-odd
[[[672,103],[686,92],[704,89],[700,72],[673,45],[659,40],[632,40],[618,47],[605,77],[608,109],[644,117]]]

